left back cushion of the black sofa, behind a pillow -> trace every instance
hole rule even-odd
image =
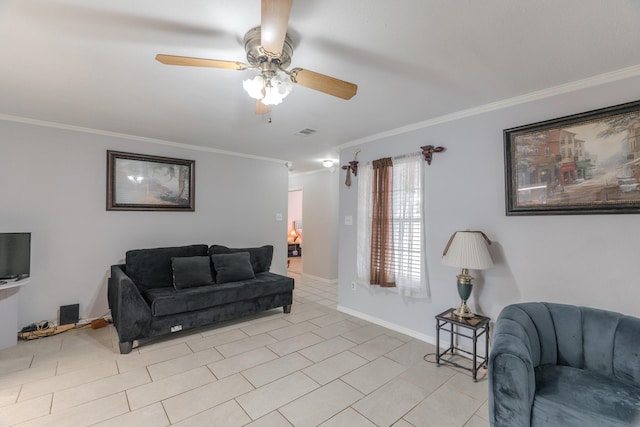
[[[140,289],[173,287],[171,258],[191,256],[207,256],[207,245],[130,250],[125,256],[127,275]]]

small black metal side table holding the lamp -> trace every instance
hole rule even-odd
[[[486,365],[489,359],[489,322],[491,321],[491,319],[486,316],[480,316],[479,314],[476,314],[474,317],[465,319],[453,314],[454,311],[454,308],[450,308],[447,311],[444,311],[436,316],[436,364],[440,366],[442,356],[447,353],[451,355],[456,354],[456,352],[469,354],[473,359],[473,365],[471,369],[450,360],[443,359],[442,362],[471,371],[471,374],[473,375],[473,381],[477,382],[478,370],[483,365]],[[446,328],[447,325],[449,326],[449,328]],[[464,329],[465,331],[461,332],[460,329]],[[449,348],[447,348],[443,352],[440,351],[441,330],[444,330],[444,332],[449,332],[449,334],[451,335]],[[466,334],[464,332],[466,332]],[[482,335],[484,335],[485,353],[484,356],[478,356],[478,338],[480,338]],[[460,348],[458,346],[458,340],[454,340],[454,336],[471,339],[473,342],[473,351],[470,352]]]

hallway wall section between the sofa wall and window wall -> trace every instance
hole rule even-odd
[[[289,188],[302,189],[302,273],[338,277],[338,170],[294,175]]]

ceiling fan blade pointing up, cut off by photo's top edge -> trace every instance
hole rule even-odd
[[[293,0],[262,0],[260,44],[269,54],[282,52],[292,5]]]

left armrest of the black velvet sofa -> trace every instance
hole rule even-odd
[[[151,308],[140,294],[138,287],[125,273],[124,265],[112,265],[108,284],[109,308],[113,324],[118,331],[120,350],[129,347],[151,321]],[[128,353],[128,351],[126,351]]]

